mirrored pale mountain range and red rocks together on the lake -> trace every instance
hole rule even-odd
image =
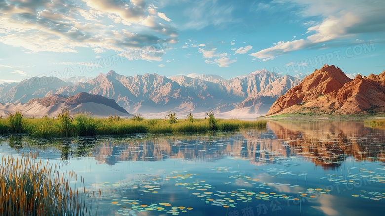
[[[104,141],[96,145],[92,155],[109,165],[166,158],[212,161],[227,156],[260,165],[302,155],[324,169],[335,169],[347,156],[357,161],[384,162],[384,140],[384,130],[365,127],[363,122],[269,121],[268,130],[242,130],[228,135]]]

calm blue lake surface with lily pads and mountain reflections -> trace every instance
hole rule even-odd
[[[77,185],[83,176],[91,215],[362,216],[384,215],[384,143],[364,122],[269,121],[183,136],[7,136],[0,152],[38,153]]]

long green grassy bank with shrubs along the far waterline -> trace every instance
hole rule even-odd
[[[177,119],[175,113],[167,119],[143,119],[135,116],[132,119],[93,118],[86,113],[74,116],[68,113],[58,114],[55,118],[22,118],[16,112],[7,118],[0,119],[0,133],[26,133],[36,138],[125,135],[133,133],[166,134],[186,132],[207,132],[211,130],[238,130],[240,128],[266,128],[266,120],[244,121],[215,119]]]

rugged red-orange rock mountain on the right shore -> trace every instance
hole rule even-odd
[[[293,106],[300,104],[301,106]],[[334,65],[324,65],[279,97],[267,115],[293,113],[317,108],[335,114],[362,113],[369,109],[385,110],[385,71],[353,80]]]

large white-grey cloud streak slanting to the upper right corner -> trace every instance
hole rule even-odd
[[[303,8],[299,14],[303,17],[321,16],[321,22],[308,21],[305,39],[281,41],[272,47],[252,53],[259,59],[274,58],[292,51],[321,48],[320,44],[345,40],[341,45],[351,44],[357,34],[385,32],[385,13],[378,8],[385,7],[385,1],[367,3],[361,0],[281,0],[284,5],[296,4]],[[296,38],[296,37],[295,37]]]

